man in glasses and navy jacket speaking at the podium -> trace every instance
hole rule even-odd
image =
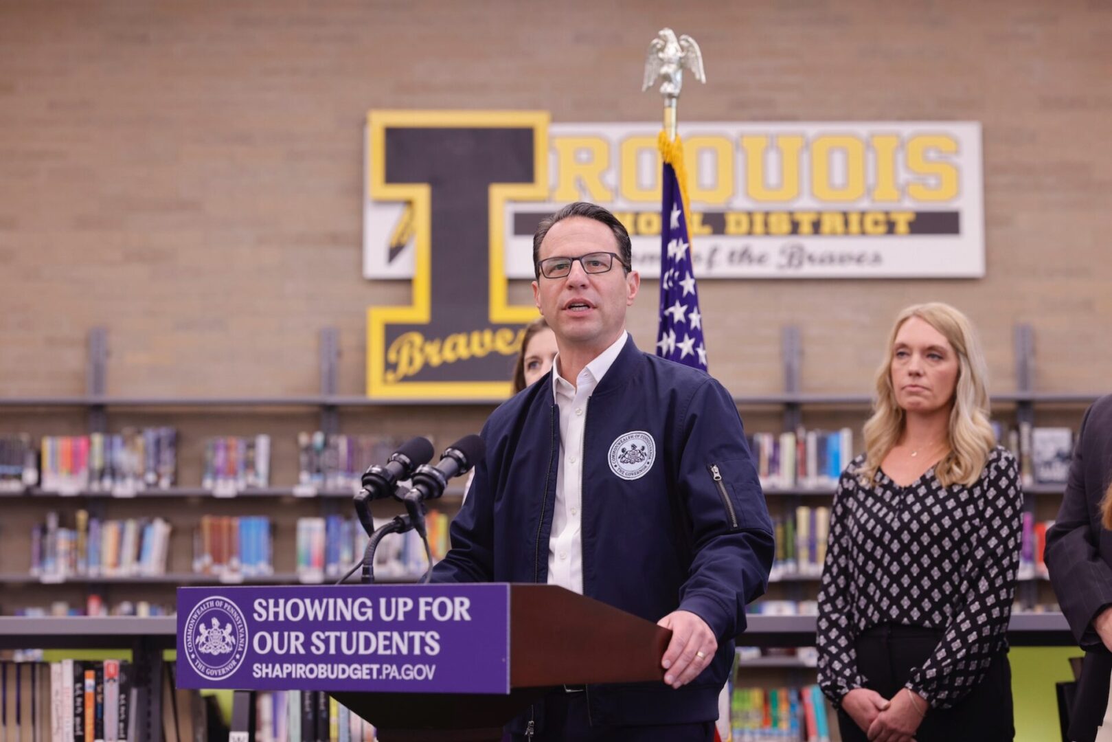
[[[672,629],[664,684],[564,687],[515,740],[709,742],[772,525],[733,398],[626,333],[641,276],[613,214],[570,204],[533,238],[552,372],[498,407],[434,582],[562,585]]]

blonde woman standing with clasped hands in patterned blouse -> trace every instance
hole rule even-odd
[[[818,593],[818,683],[846,742],[1014,736],[1005,631],[1023,495],[985,375],[957,309],[896,317]]]

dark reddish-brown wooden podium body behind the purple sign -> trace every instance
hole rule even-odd
[[[497,742],[504,724],[563,684],[664,682],[671,630],[555,585],[509,588],[509,695],[331,695],[381,742]]]

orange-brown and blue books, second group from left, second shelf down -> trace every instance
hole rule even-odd
[[[274,537],[265,515],[202,515],[193,531],[193,572],[245,577],[274,574]]]

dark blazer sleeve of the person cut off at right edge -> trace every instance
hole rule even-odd
[[[1112,565],[1100,553],[1100,502],[1109,484],[1112,396],[1085,412],[1058,521],[1046,532],[1044,558],[1051,584],[1078,643],[1101,645],[1092,622],[1112,605]]]

